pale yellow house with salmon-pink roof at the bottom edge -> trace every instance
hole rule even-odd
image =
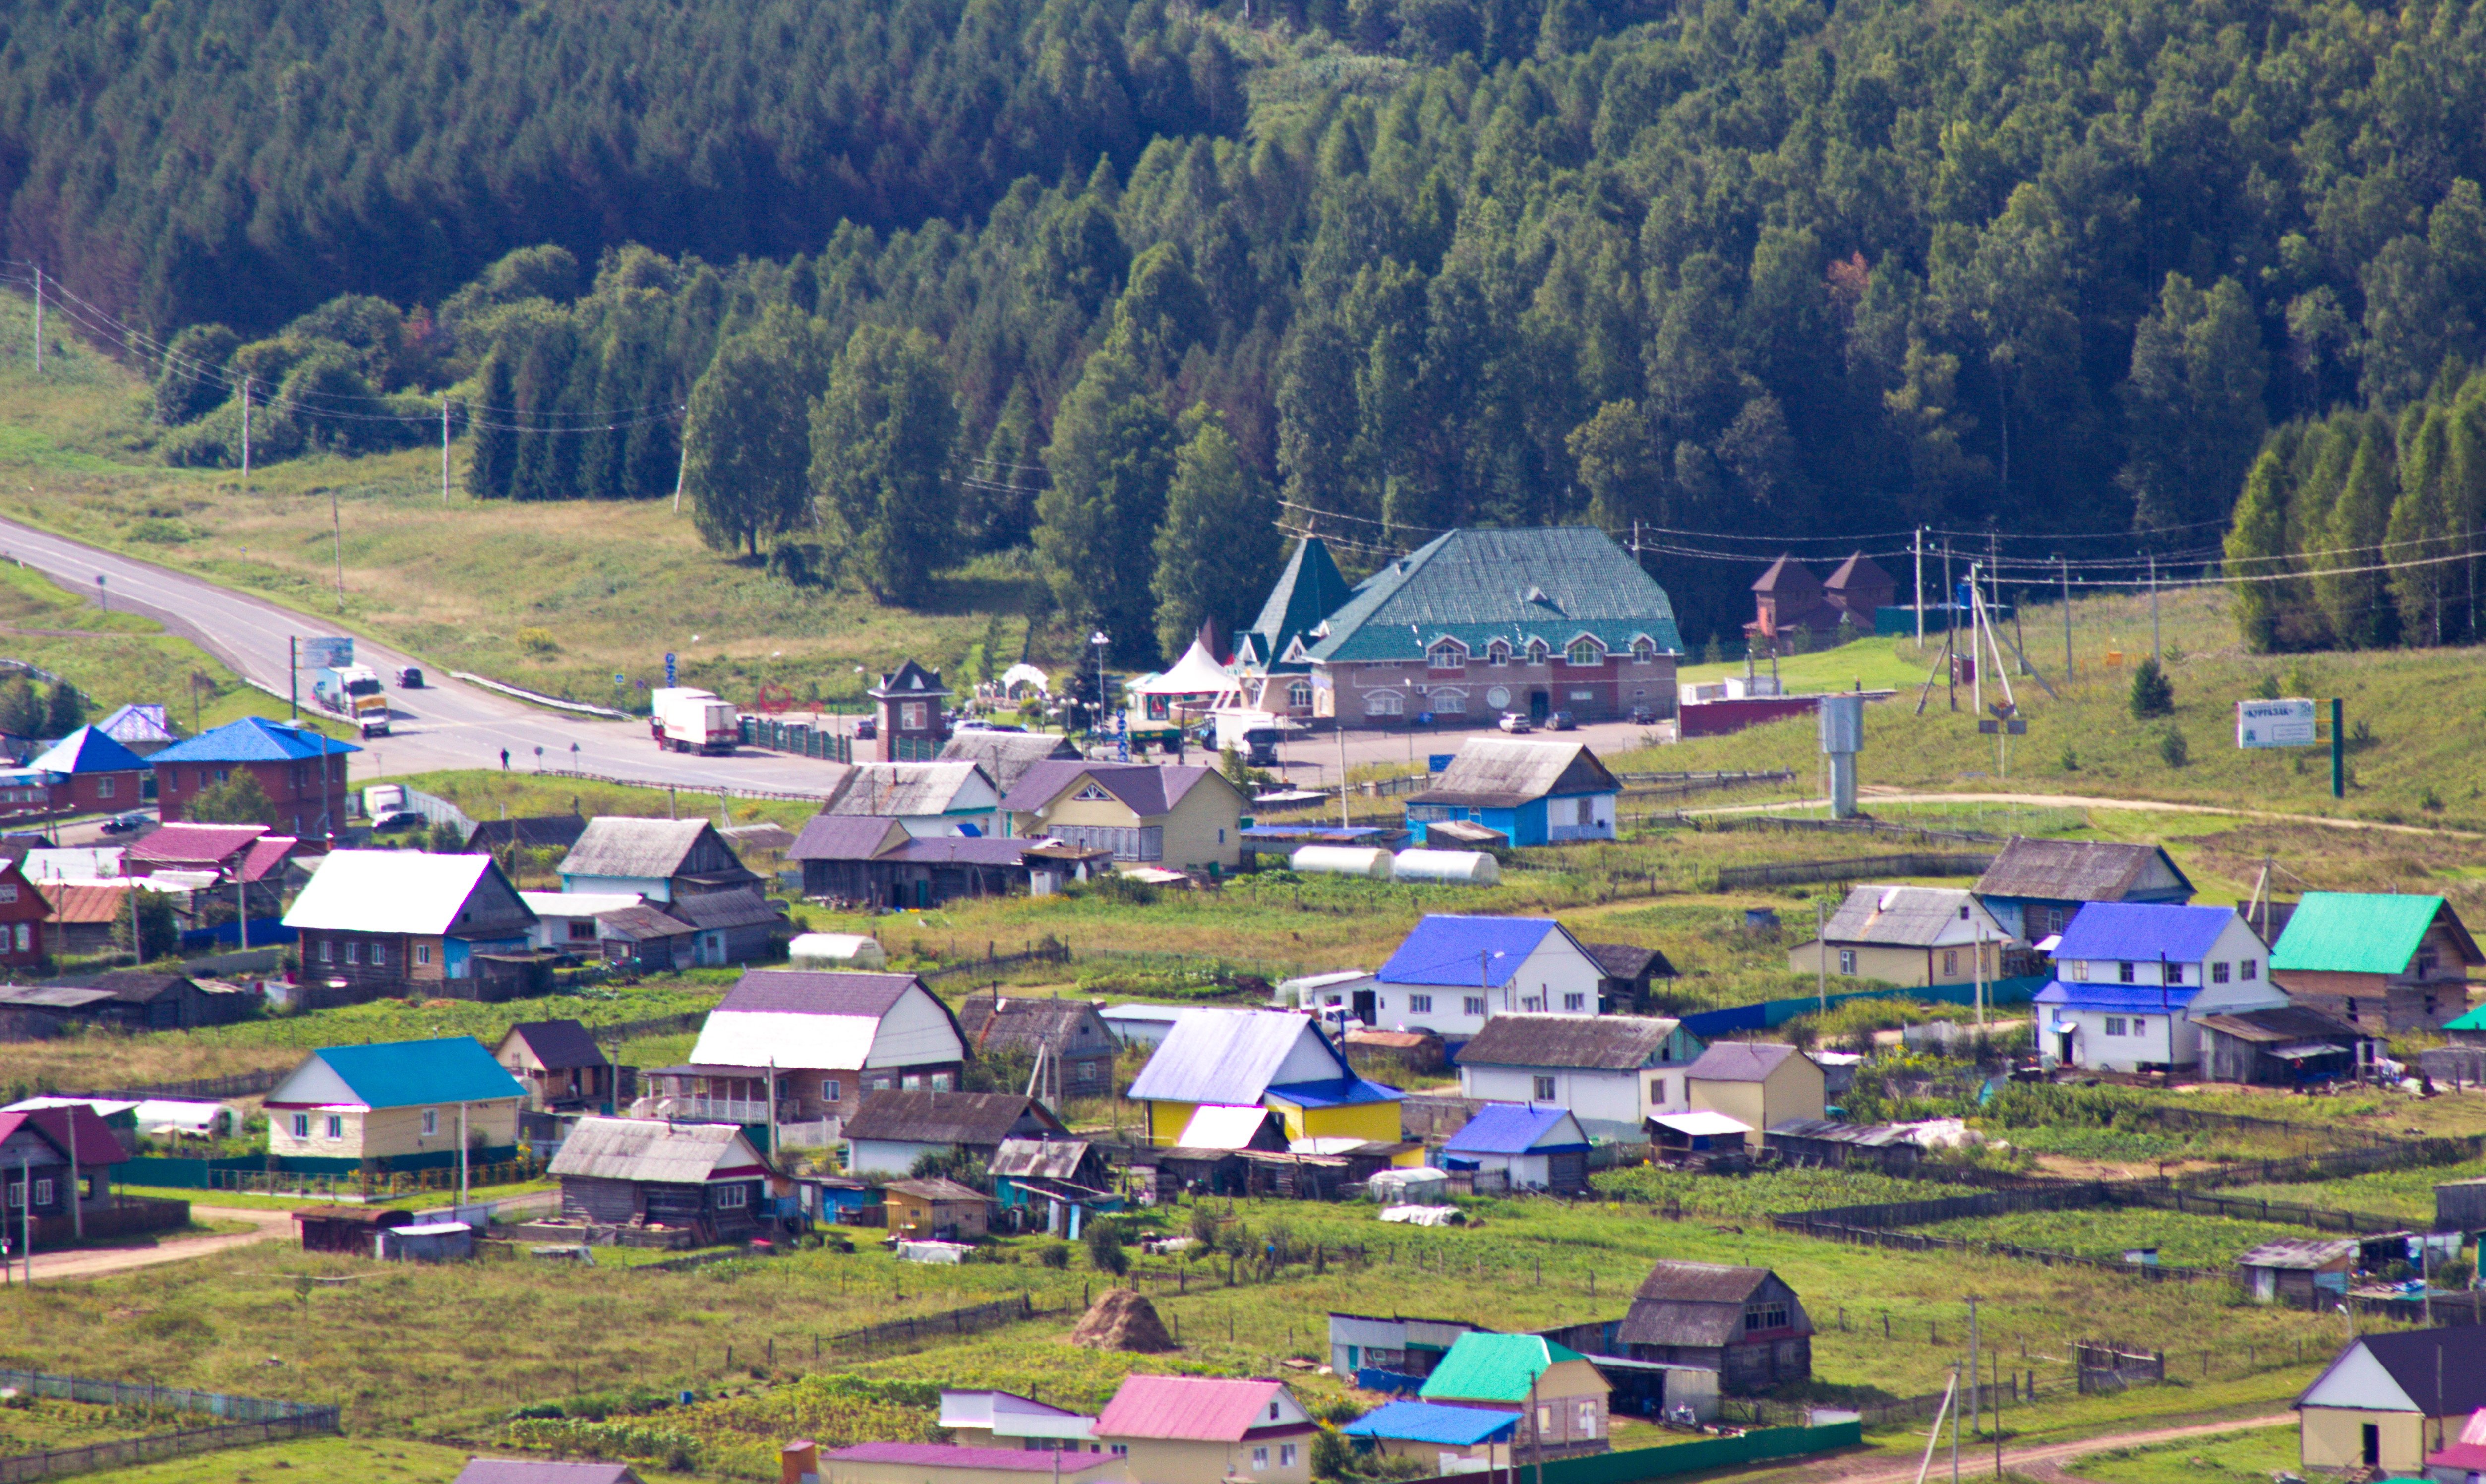
[[[1273,1380],[1134,1375],[1096,1414],[1134,1484],[1313,1484],[1318,1432]]]

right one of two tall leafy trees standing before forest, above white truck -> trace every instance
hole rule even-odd
[[[873,597],[925,599],[957,524],[955,445],[957,403],[932,336],[858,328],[810,413],[810,487]]]

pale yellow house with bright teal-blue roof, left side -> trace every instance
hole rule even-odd
[[[510,1158],[525,1096],[475,1037],[323,1047],[268,1091],[268,1153],[415,1168],[450,1163],[462,1138]]]

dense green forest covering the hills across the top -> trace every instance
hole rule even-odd
[[[721,549],[892,602],[1027,547],[1131,651],[1248,616],[1280,512],[1367,559],[1541,520],[2175,554],[2247,470],[2295,512],[2374,442],[2322,547],[2265,532],[2329,549],[2486,360],[2464,5],[27,0],[0,37],[10,254],[137,326],[169,457],[229,462],[241,378],[296,447],[438,435],[452,385],[477,495],[679,475]],[[1748,611],[1755,564],[1656,569],[1693,636]],[[2369,604],[2466,624],[2419,609]]]

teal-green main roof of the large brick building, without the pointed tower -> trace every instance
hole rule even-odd
[[[1544,639],[1561,654],[1581,634],[1608,654],[1648,639],[1683,654],[1676,607],[1628,552],[1584,524],[1454,529],[1390,562],[1330,614],[1315,661],[1422,659],[1442,636],[1482,656]]]

